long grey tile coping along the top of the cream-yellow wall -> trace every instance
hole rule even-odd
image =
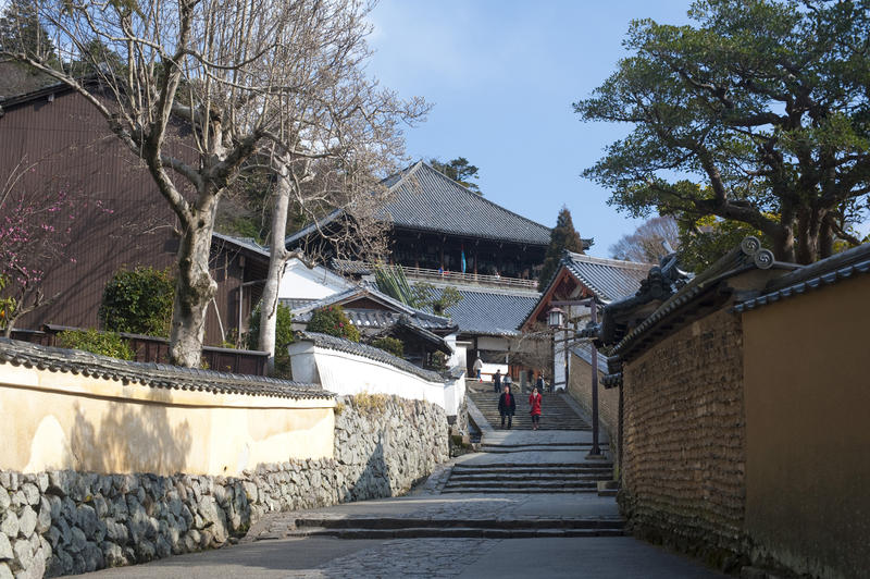
[[[315,384],[182,368],[165,364],[119,360],[77,349],[39,346],[8,338],[0,338],[0,361],[26,368],[120,380],[125,384],[138,382],[150,387],[201,391],[212,394],[247,394],[296,399],[332,398],[334,396]]]

